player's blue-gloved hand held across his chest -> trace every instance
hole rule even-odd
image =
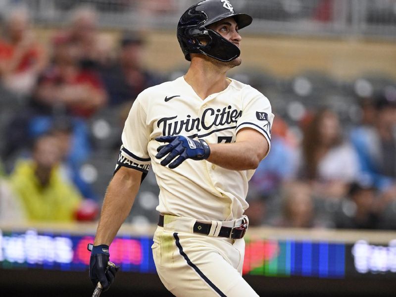
[[[186,159],[203,160],[207,159],[210,154],[210,148],[203,139],[193,140],[185,136],[160,136],[155,138],[158,142],[169,143],[168,145],[159,146],[157,148],[157,159],[163,158],[161,165],[168,165],[173,169],[183,163]]]

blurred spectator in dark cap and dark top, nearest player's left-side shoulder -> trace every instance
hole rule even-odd
[[[124,33],[116,62],[101,70],[109,105],[133,102],[143,90],[161,82],[157,75],[142,66],[144,45],[140,33]]]

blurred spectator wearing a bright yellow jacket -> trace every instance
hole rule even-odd
[[[73,221],[81,205],[78,190],[59,171],[61,151],[54,136],[39,137],[32,159],[19,160],[10,183],[30,221]]]

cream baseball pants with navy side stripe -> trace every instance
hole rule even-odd
[[[172,222],[166,221],[155,231],[151,248],[159,278],[173,295],[258,296],[242,278],[243,239],[189,232],[194,219],[172,216]]]

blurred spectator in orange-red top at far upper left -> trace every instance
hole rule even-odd
[[[46,64],[46,50],[36,40],[27,9],[12,11],[0,39],[3,86],[13,93],[28,95]]]

